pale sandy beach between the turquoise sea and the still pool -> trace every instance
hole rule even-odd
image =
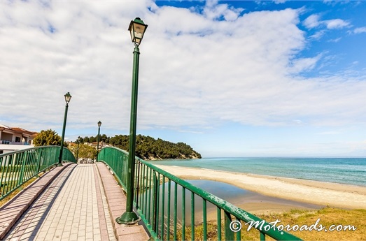
[[[186,168],[181,166],[156,165],[162,170],[188,180],[213,180],[232,184],[241,189],[254,191],[264,196],[264,200],[238,202],[239,207],[249,212],[286,211],[306,205],[284,203],[276,198],[300,203],[339,207],[347,209],[366,209],[366,187],[330,182],[317,182],[287,177],[272,177],[248,173],[232,173],[220,170]]]

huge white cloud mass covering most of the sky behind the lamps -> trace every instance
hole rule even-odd
[[[49,4],[0,1],[3,124],[59,128],[70,92],[69,129],[94,128],[100,119],[104,129],[127,130],[133,50],[127,27],[136,16],[148,24],[140,47],[139,129],[366,119],[365,81],[297,76],[320,58],[296,58],[307,45],[298,10],[240,16],[241,9],[217,1],[208,1],[203,15],[153,1]]]

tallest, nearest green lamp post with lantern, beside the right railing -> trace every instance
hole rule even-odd
[[[148,25],[136,17],[129,23],[128,30],[131,34],[132,43],[134,43],[134,68],[132,71],[132,96],[131,96],[131,117],[129,126],[129,154],[127,162],[127,203],[126,211],[121,217],[115,219],[118,224],[135,224],[139,217],[133,210],[134,199],[134,166],[136,151],[136,117],[137,117],[137,94],[139,87],[139,45],[142,41]]]

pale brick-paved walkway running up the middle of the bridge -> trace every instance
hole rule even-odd
[[[5,240],[148,240],[142,226],[115,223],[111,209],[118,204],[107,196],[111,196],[111,186],[119,187],[110,181],[113,176],[104,164],[98,163],[98,168],[95,164],[64,168],[22,214]]]

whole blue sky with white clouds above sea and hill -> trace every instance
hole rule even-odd
[[[366,1],[0,1],[0,124],[203,157],[366,156]]]

